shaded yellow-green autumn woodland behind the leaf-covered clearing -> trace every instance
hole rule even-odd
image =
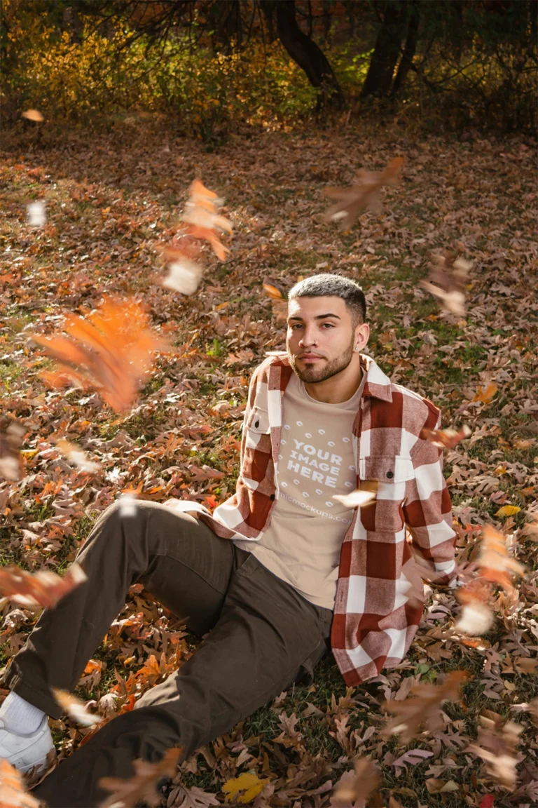
[[[372,112],[430,128],[536,130],[532,0],[0,4],[0,122],[167,116],[219,141],[245,124]]]

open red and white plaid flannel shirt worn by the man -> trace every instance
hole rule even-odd
[[[440,410],[392,384],[369,356],[361,355],[361,368],[366,381],[352,426],[357,488],[376,481],[377,498],[355,509],[340,553],[331,645],[348,685],[397,666],[407,654],[423,612],[406,594],[412,550],[430,567],[433,583],[451,583],[456,574],[442,452],[420,437],[424,427],[440,427]],[[252,374],[236,494],[213,516],[206,509],[198,515],[219,537],[256,541],[269,526],[278,497],[282,396],[293,372],[286,353],[275,353]]]

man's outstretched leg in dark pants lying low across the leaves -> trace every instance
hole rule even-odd
[[[129,777],[132,760],[182,758],[310,672],[327,649],[332,612],[304,600],[252,555],[233,574],[215,628],[193,656],[102,727],[35,794],[49,808],[95,808],[103,776]]]

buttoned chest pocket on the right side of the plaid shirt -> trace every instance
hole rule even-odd
[[[403,503],[407,481],[415,477],[411,457],[400,455],[371,455],[359,461],[361,488],[377,488],[377,496],[370,507],[361,509],[361,521],[370,532],[398,532],[402,530]]]

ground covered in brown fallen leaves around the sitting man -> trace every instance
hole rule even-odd
[[[406,160],[402,182],[386,192],[380,215],[365,213],[346,233],[323,221],[325,185],[352,183],[357,169],[381,169],[397,155]],[[227,499],[239,470],[250,373],[265,351],[285,348],[285,327],[262,282],[286,292],[300,276],[342,271],[365,288],[369,351],[382,369],[442,407],[444,427],[472,430],[445,452],[458,558],[475,558],[482,526],[493,524],[527,570],[515,603],[499,595],[496,621],[482,638],[454,633],[456,598],[432,591],[399,668],[346,692],[327,657],[310,687],[283,693],[188,760],[168,805],[223,803],[223,785],[244,772],[257,776],[252,794],[267,781],[256,806],[336,805],[332,786],[358,756],[381,772],[375,806],[491,806],[487,795],[496,808],[536,803],[538,718],[536,707],[527,708],[538,688],[536,534],[529,529],[538,516],[536,150],[519,137],[410,140],[342,128],[245,134],[207,152],[201,143],[126,129],[121,136],[66,133],[61,142],[6,137],[0,156],[2,415],[26,429],[23,476],[0,481],[2,564],[64,570],[121,492],[210,508]],[[224,197],[234,233],[227,261],[208,252],[202,284],[186,297],[159,283],[156,245],[173,237],[197,175]],[[27,223],[34,200],[47,211],[37,228]],[[441,250],[473,262],[465,318],[445,312],[419,285]],[[143,300],[152,326],[172,344],[127,414],[92,389],[50,389],[40,373],[51,360],[31,339],[58,331],[65,314],[87,315],[104,294]],[[60,437],[100,468],[77,469],[56,446]],[[35,615],[9,600],[0,604],[6,664]],[[140,585],[132,587],[77,695],[106,716],[127,709],[197,642]],[[408,747],[381,734],[386,698],[402,700],[412,684],[436,683],[453,670],[470,678],[461,700],[444,705],[439,730]],[[485,709],[499,726],[508,718],[523,725],[510,788],[494,766],[466,751]],[[52,727],[60,760],[89,731],[69,718]]]

